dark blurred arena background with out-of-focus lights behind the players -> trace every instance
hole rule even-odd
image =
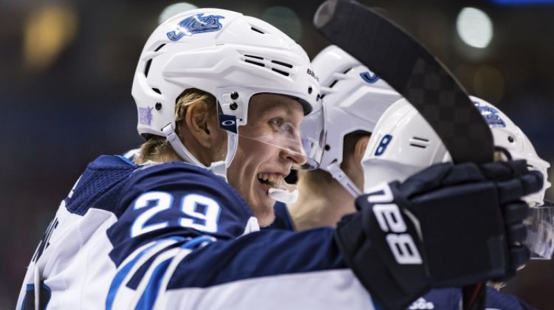
[[[423,42],[554,163],[554,1],[361,2]],[[132,77],[160,20],[190,6],[236,10],[274,24],[314,57],[328,45],[312,26],[320,3],[0,1],[0,309],[15,308],[35,246],[87,163],[141,143]],[[503,291],[554,309],[553,262],[531,262]]]

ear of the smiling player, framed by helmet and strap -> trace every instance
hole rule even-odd
[[[195,137],[200,145],[209,148],[212,145],[210,122],[213,113],[208,109],[208,103],[199,100],[187,107],[185,122],[190,134]]]

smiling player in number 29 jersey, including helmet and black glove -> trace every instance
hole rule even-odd
[[[508,222],[482,210],[504,208],[511,216],[520,210],[519,197],[539,190],[542,176],[522,163],[437,165],[417,176],[438,183],[391,185],[381,199],[394,201],[388,205],[395,215],[403,212],[387,222],[393,234],[379,229],[371,206],[336,231],[257,231],[272,221],[276,199],[294,198],[283,183],[292,165],[321,159],[317,79],[305,52],[258,19],[199,9],[161,24],[133,82],[145,143],[133,161],[100,156],[89,164],[37,248],[18,309],[376,309],[377,303],[395,310],[431,286],[507,275],[518,255],[502,238],[522,219]],[[315,129],[301,131],[303,122]],[[468,211],[456,195],[480,201],[481,212]],[[404,213],[436,204],[495,229],[458,237],[456,250],[445,251],[453,239],[416,230],[414,221],[427,223],[432,215]],[[453,221],[433,225],[452,237]],[[408,241],[411,253],[392,252],[391,238]],[[463,274],[435,273],[440,266],[428,263],[457,251],[479,258],[450,262]]]

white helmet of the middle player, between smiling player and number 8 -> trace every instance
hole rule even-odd
[[[319,74],[325,104],[327,138],[320,169],[357,197],[361,190],[340,168],[344,136],[359,130],[373,132],[382,113],[402,96],[338,46],[324,48],[312,65]]]

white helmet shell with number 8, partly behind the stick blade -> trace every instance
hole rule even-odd
[[[525,197],[530,206],[542,205],[551,186],[546,179],[550,164],[539,158],[530,140],[506,114],[485,100],[470,98],[487,120],[495,147],[506,150],[512,159],[526,159],[530,169],[542,172],[542,190]],[[429,123],[407,100],[398,100],[383,114],[370,138],[362,161],[364,189],[382,181],[404,181],[425,167],[446,161],[452,157]]]

